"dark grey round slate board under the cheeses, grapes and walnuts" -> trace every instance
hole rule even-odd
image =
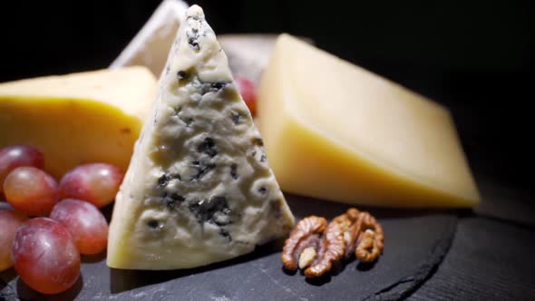
[[[296,218],[333,218],[348,206],[287,195]],[[287,274],[282,241],[209,267],[174,271],[130,271],[106,267],[105,258],[84,257],[82,277],[55,296],[34,292],[12,269],[0,273],[0,299],[18,300],[365,300],[398,299],[430,276],[447,253],[457,217],[452,211],[370,210],[383,224],[384,255],[375,265],[357,261],[331,277],[309,281]]]

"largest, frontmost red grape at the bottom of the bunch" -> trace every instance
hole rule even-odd
[[[80,253],[71,233],[50,218],[30,219],[19,228],[13,261],[24,282],[43,294],[61,293],[80,276]]]

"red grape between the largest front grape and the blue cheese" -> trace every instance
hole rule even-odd
[[[108,223],[93,204],[79,199],[63,199],[53,207],[50,218],[69,229],[80,253],[98,254],[106,248]]]

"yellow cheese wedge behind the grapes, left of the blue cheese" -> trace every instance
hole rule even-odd
[[[1,83],[0,148],[34,145],[57,179],[84,162],[126,170],[155,87],[145,67]]]

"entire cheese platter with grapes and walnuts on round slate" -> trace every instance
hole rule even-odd
[[[37,217],[3,237],[0,296],[399,299],[440,264],[480,202],[447,108],[289,34],[219,42],[207,19],[166,0],[110,69],[0,84],[3,206]],[[13,159],[23,144],[46,164]],[[39,169],[59,184],[22,189]],[[106,251],[58,213],[76,199]],[[60,224],[72,246],[39,232]],[[62,244],[79,253],[60,271],[40,258]]]

